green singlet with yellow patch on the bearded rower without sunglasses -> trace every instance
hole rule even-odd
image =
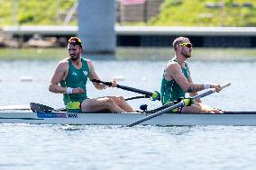
[[[81,112],[80,103],[87,99],[87,78],[89,67],[85,58],[81,58],[82,67],[77,69],[69,59],[69,74],[65,80],[60,81],[60,86],[82,88],[84,94],[63,94],[63,101],[68,112]]]

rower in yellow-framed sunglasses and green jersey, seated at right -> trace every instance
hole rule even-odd
[[[184,98],[186,93],[190,96],[197,95],[197,92],[215,88],[221,91],[221,85],[215,84],[194,84],[190,76],[187,58],[191,58],[192,44],[185,37],[178,37],[173,41],[175,57],[169,60],[164,69],[161,81],[161,103],[167,104]],[[201,100],[191,101],[189,106],[174,110],[174,112],[202,112],[221,113],[218,109],[202,104]]]

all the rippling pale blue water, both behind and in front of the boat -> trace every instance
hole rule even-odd
[[[92,58],[102,79],[122,77],[123,81],[118,84],[147,91],[159,91],[162,70],[168,60],[168,57],[152,56],[134,59],[129,55],[88,58]],[[195,56],[188,61],[194,82],[232,83],[221,93],[206,96],[203,102],[224,110],[255,111],[255,60],[222,61],[220,58],[207,61]],[[50,76],[57,63],[58,60],[1,61],[0,105],[37,102],[63,107],[61,94],[48,92]],[[32,82],[21,81],[23,76],[30,76]],[[97,91],[88,83],[90,97],[115,94],[136,95],[116,88]],[[159,102],[148,99],[129,103],[135,108],[142,103],[151,104],[151,108],[160,106]],[[255,139],[255,127],[136,126],[124,129],[0,124],[0,169],[254,169]]]

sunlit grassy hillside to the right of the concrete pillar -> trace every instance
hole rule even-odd
[[[224,2],[224,3],[222,3]],[[149,25],[256,26],[256,1],[165,0]]]

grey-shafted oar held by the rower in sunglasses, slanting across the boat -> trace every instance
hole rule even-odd
[[[229,86],[229,85],[231,85],[231,84],[230,84],[230,83],[227,83],[227,84],[222,85],[221,87],[222,87],[222,89],[223,89],[224,87],[227,87],[227,86]],[[215,92],[216,92],[216,89],[215,89],[215,88],[214,88],[214,89],[209,89],[209,90],[207,90],[205,93],[198,94],[198,95],[192,97],[191,99],[197,100],[197,99],[200,99],[200,98],[205,97],[206,95],[214,94]],[[130,123],[130,124],[126,125],[125,127],[133,127],[134,125],[137,125],[137,124],[142,123],[142,122],[144,122],[144,121],[149,121],[149,120],[151,120],[151,119],[154,118],[154,117],[160,116],[161,114],[166,113],[166,112],[170,112],[170,111],[172,111],[173,109],[176,109],[176,108],[178,108],[178,107],[186,106],[187,102],[189,102],[189,101],[187,101],[187,100],[190,100],[190,99],[184,99],[184,100],[182,100],[180,103],[174,104],[174,105],[172,105],[172,106],[170,106],[170,107],[168,107],[168,108],[166,108],[166,109],[164,109],[164,110],[161,110],[160,112],[155,112],[155,113],[153,113],[153,114],[151,114],[151,115],[149,115],[149,116],[146,116],[146,117],[142,118],[141,120],[134,121],[133,123]]]

